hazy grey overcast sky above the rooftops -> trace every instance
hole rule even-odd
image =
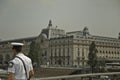
[[[120,0],[0,0],[0,39],[38,36],[49,20],[68,31],[118,37]]]

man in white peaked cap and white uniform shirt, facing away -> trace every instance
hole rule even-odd
[[[23,43],[11,43],[14,59],[9,62],[8,80],[29,80],[33,75],[33,66],[30,58],[22,53]]]

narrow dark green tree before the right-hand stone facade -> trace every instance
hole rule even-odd
[[[94,69],[97,67],[97,49],[95,42],[92,42],[89,46],[89,54],[88,54],[88,65],[90,66],[92,73]]]

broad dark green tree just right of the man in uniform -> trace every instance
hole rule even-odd
[[[42,63],[42,49],[40,43],[33,41],[30,44],[30,50],[28,56],[31,58],[33,63],[37,63],[37,66],[40,67]]]

